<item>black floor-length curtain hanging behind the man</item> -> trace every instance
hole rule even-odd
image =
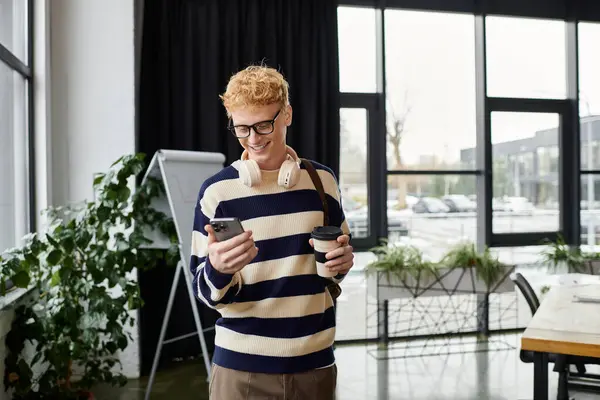
[[[264,63],[290,83],[288,144],[338,174],[337,0],[146,0],[142,35],[136,142],[148,159],[158,149],[220,152],[227,164],[239,158],[219,94],[232,74]],[[139,273],[143,375],[152,365],[172,279],[166,268]],[[194,331],[185,290],[182,280],[167,338]],[[214,325],[216,312],[201,306],[200,313],[205,327]],[[212,344],[214,336],[206,338]],[[168,344],[161,365],[199,353],[194,337]]]

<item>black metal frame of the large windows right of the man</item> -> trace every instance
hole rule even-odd
[[[542,7],[544,5],[544,7]],[[578,246],[581,243],[580,233],[580,200],[581,177],[583,174],[599,173],[600,171],[581,171],[580,164],[580,118],[579,118],[579,57],[578,57],[578,22],[600,21],[600,6],[592,12],[591,3],[585,8],[585,13],[568,0],[552,0],[550,4],[543,0],[533,3],[523,3],[518,0],[506,2],[490,1],[475,2],[473,0],[341,0],[339,6],[372,7],[378,11],[376,24],[377,75],[378,90],[374,94],[378,105],[386,104],[385,90],[385,21],[383,14],[386,9],[422,10],[434,12],[471,13],[475,18],[475,72],[476,72],[476,146],[475,169],[473,170],[418,170],[390,171],[386,165],[386,110],[379,106],[376,124],[378,134],[369,139],[368,154],[370,198],[369,209],[375,218],[371,220],[371,229],[377,234],[377,241],[387,237],[387,177],[389,175],[475,175],[477,195],[477,237],[476,245],[479,250],[485,247],[520,247],[537,246],[543,240],[555,240],[562,235],[569,245]],[[499,98],[488,97],[486,83],[486,16],[505,15],[516,17],[534,17],[559,19],[565,22],[566,35],[566,97],[564,99],[532,99],[532,98]],[[344,93],[340,93],[343,98]],[[351,94],[363,96],[366,94]],[[342,103],[342,107],[347,107]],[[560,116],[559,138],[559,212],[560,224],[557,232],[528,232],[515,234],[493,234],[492,232],[492,199],[493,199],[493,164],[491,140],[491,113],[493,111],[513,112],[550,112]],[[376,146],[376,148],[372,148]],[[381,162],[378,162],[380,161]],[[383,179],[382,179],[383,178]],[[379,226],[377,226],[379,224]],[[486,299],[483,300],[487,304]],[[478,310],[478,333],[489,334],[489,309],[482,307]]]

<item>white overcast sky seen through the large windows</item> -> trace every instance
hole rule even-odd
[[[460,149],[475,146],[474,17],[388,10],[385,18],[388,102],[397,112],[411,108],[404,160],[435,154],[457,161]],[[374,92],[374,10],[341,7],[338,24],[340,89]],[[488,17],[488,94],[565,98],[564,29],[562,21]],[[600,114],[600,24],[580,24],[579,36],[582,99],[592,114]],[[586,104],[582,107],[586,115]],[[493,115],[492,140],[522,139],[557,123],[552,114]],[[364,135],[362,125],[357,118],[348,121],[354,140]]]

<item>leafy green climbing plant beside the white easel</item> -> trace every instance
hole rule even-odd
[[[130,189],[144,168],[142,154],[120,158],[94,179],[93,201],[47,210],[46,231],[0,258],[0,294],[8,279],[35,291],[6,337],[4,383],[14,399],[87,399],[96,384],[126,383],[118,353],[143,304],[134,269],[179,257],[173,222],[150,206],[162,185],[149,179]],[[166,255],[145,247],[150,230],[171,239]]]

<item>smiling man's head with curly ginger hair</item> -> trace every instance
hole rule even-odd
[[[278,169],[286,159],[285,139],[287,127],[292,123],[288,83],[283,75],[273,68],[250,66],[231,77],[221,99],[230,125],[254,126],[249,131],[247,128],[234,131],[248,158],[263,170]],[[273,119],[273,131],[261,135],[260,132],[271,130]]]

